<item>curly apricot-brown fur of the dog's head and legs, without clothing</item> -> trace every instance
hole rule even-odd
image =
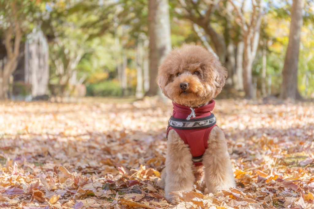
[[[196,71],[199,73],[195,74]],[[227,71],[212,53],[202,46],[184,44],[165,57],[158,69],[157,83],[172,101],[187,107],[201,107],[220,93],[226,77]],[[186,90],[180,88],[182,82],[188,83]],[[175,130],[170,130],[165,165],[159,185],[171,202],[179,200],[177,193],[171,192],[193,189],[194,181],[202,173],[199,169],[204,171],[200,185],[206,184],[208,192],[235,187],[225,135],[218,127],[209,135],[203,168],[194,167],[189,146]]]

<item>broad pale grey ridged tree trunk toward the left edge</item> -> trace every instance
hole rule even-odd
[[[29,34],[25,44],[25,83],[32,85],[33,97],[47,94],[48,56],[48,43],[42,31]]]

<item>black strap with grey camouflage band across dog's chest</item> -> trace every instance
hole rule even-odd
[[[171,118],[168,121],[170,127],[180,130],[190,130],[198,128],[209,128],[216,124],[216,118],[212,113],[204,118],[191,118],[190,120],[181,118]]]

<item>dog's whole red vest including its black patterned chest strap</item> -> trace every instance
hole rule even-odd
[[[208,148],[209,134],[217,126],[216,118],[210,112],[214,109],[215,101],[211,100],[208,105],[193,109],[194,115],[190,107],[174,102],[172,104],[173,112],[169,119],[167,137],[171,129],[175,130],[184,143],[189,145],[194,165],[203,165],[202,156]]]

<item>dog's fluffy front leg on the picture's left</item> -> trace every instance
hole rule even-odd
[[[178,196],[169,193],[192,190],[194,174],[190,148],[184,144],[175,130],[170,130],[168,133],[165,169],[165,196],[170,202],[178,201]]]

